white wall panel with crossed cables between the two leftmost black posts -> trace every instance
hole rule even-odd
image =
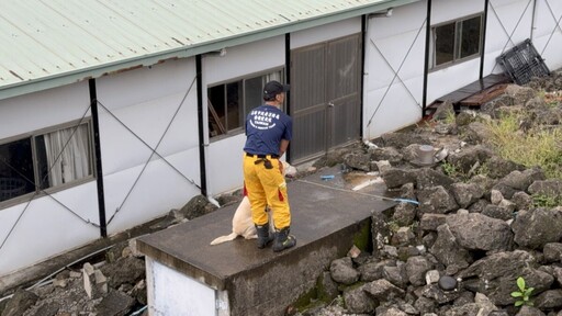
[[[97,91],[108,234],[201,193],[194,58],[102,77]]]

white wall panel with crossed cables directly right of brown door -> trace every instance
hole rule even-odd
[[[422,117],[426,3],[394,8],[368,20],[363,138],[414,124]]]

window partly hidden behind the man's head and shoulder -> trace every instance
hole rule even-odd
[[[283,82],[283,70],[252,75],[207,89],[209,137],[244,131],[246,115],[263,104],[263,87],[270,80]]]

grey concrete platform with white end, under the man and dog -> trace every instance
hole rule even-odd
[[[334,179],[323,180],[322,176],[334,176]],[[148,291],[153,287],[153,291],[170,292],[148,293],[153,301],[160,301],[149,302],[149,308],[150,303],[154,305],[153,315],[166,313],[166,308],[191,308],[184,303],[188,301],[193,308],[200,308],[194,305],[206,300],[194,298],[200,290],[192,285],[177,284],[178,287],[173,289],[173,284],[167,281],[170,287],[159,287],[156,274],[167,274],[160,271],[162,267],[175,271],[171,272],[173,275],[179,272],[178,275],[214,290],[215,314],[210,309],[183,311],[192,313],[187,315],[283,315],[290,303],[314,287],[316,278],[327,270],[331,260],[347,253],[353,245],[353,236],[364,227],[370,228],[372,212],[396,204],[390,199],[381,199],[386,189],[384,184],[352,191],[361,179],[348,183],[341,176],[339,168],[331,168],[288,182],[291,234],[297,244],[282,252],[276,253],[271,248],[257,249],[256,240],[241,237],[210,246],[217,236],[231,233],[237,204],[139,238],[137,247],[148,259],[147,274],[155,274],[147,275],[150,279],[148,283],[155,283],[153,286],[149,284]],[[186,293],[190,291],[192,293]],[[172,307],[170,304],[187,305]]]

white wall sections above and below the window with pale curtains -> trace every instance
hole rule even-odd
[[[90,116],[88,82],[0,101],[0,139]],[[88,222],[91,222],[89,224]],[[100,236],[95,180],[0,210],[0,275]]]

